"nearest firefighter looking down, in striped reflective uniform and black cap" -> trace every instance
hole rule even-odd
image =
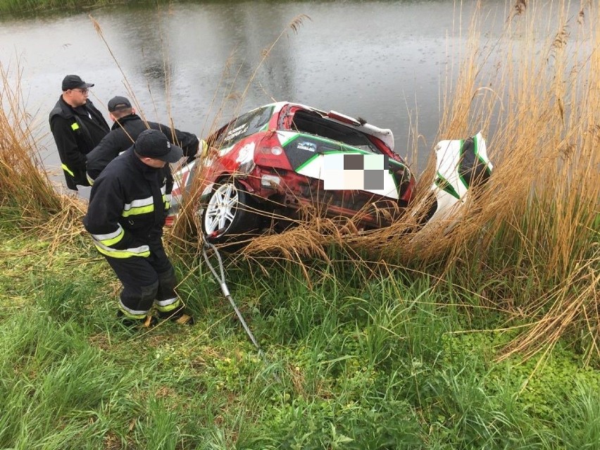
[[[169,163],[182,156],[162,132],[145,130],[92,186],[83,223],[123,284],[117,315],[127,327],[154,325],[153,302],[159,318],[192,323],[175,293],[175,269],[162,242],[173,188]]]

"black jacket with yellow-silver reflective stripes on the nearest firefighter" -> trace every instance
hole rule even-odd
[[[96,248],[112,258],[149,256],[148,243],[160,239],[170,204],[173,176],[127,149],[113,159],[92,186],[83,219]]]

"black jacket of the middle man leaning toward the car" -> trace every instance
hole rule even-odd
[[[108,133],[96,146],[94,150],[87,154],[87,176],[88,181],[96,180],[101,171],[108,163],[128,149],[135,142],[135,139],[144,130],[161,130],[169,139],[171,144],[180,146],[183,154],[193,158],[198,151],[198,138],[192,133],[183,132],[173,128],[171,130],[167,125],[156,122],[144,122],[137,114],[125,115],[113,123],[111,132]]]

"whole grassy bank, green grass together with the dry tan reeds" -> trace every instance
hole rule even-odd
[[[2,71],[0,448],[599,449],[599,11],[527,4],[444,92],[440,139],[494,121],[468,219],[313,220],[225,261],[265,361],[183,225],[165,242],[196,325],[115,322],[85,204],[38,169]]]

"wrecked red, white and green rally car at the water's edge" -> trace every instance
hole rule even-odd
[[[449,156],[440,154],[444,142]],[[465,142],[438,144],[438,168],[446,169],[438,170],[432,187],[434,208],[447,210],[464,201],[466,173],[477,169],[489,176],[485,141],[477,135]],[[359,228],[382,227],[399,218],[413,199],[415,177],[394,152],[392,131],[335,111],[268,104],[231,120],[206,145],[203,158],[174,174],[168,221],[200,176],[201,232],[215,244],[247,239],[265,227],[280,230],[305,211],[349,218]],[[439,212],[430,211],[428,218]]]

